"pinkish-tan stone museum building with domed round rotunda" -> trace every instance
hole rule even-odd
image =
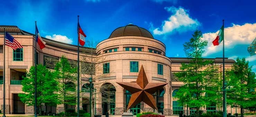
[[[37,63],[46,65],[48,58],[51,62],[56,63],[64,55],[70,61],[77,61],[77,45],[66,44],[63,42],[57,42],[55,40],[43,38],[46,42],[46,47],[42,50],[39,46],[36,48],[35,54],[35,38],[34,34],[23,31],[17,26],[0,25],[0,104],[1,110],[3,107],[3,40],[4,40],[4,28],[11,34],[24,48],[13,50],[12,48],[5,47],[5,86],[6,86],[6,113],[7,114],[33,114],[34,107],[27,106],[20,101],[18,96],[22,92],[22,76],[26,75],[26,71],[31,66],[35,66],[34,61]],[[109,97],[115,100],[112,103],[102,103],[101,100],[97,100],[95,109],[97,114],[105,115],[121,115],[126,110],[129,103],[131,93],[126,91],[116,82],[135,82],[143,65],[146,72],[148,82],[153,83],[168,83],[162,89],[158,90],[154,94],[157,108],[163,115],[178,115],[179,113],[185,113],[187,107],[179,106],[177,99],[173,98],[179,87],[183,82],[174,76],[175,72],[180,72],[181,63],[190,62],[189,58],[176,58],[166,56],[166,51],[175,51],[175,48],[170,47],[166,50],[166,45],[161,41],[155,39],[152,34],[145,28],[138,27],[133,24],[128,24],[113,30],[107,39],[102,40],[92,49],[92,55],[90,48],[80,47],[80,60],[83,61],[83,57],[92,56],[102,61],[98,64],[101,65],[101,69],[95,75],[104,75],[104,77],[96,80],[100,84],[96,89],[96,98],[100,98],[100,87],[103,85],[113,85],[114,88],[110,89],[115,91],[115,95]],[[222,72],[222,58],[205,58],[213,60],[214,65],[217,65],[219,72]],[[225,58],[225,68],[230,68],[235,60]],[[88,62],[88,61],[86,61]],[[90,61],[89,61],[90,62]],[[46,66],[49,69],[53,69],[52,66]],[[81,64],[82,68],[83,65]],[[86,85],[88,85],[88,79],[81,74],[80,90],[82,91]],[[76,82],[74,82],[76,84]],[[82,91],[80,95],[88,95],[86,91]],[[94,96],[94,95],[93,95]],[[80,109],[89,112],[89,103],[87,99],[80,96],[81,105]],[[76,105],[68,105],[68,108],[76,109]],[[94,105],[93,105],[94,107]],[[63,112],[64,106],[57,105],[48,106],[44,105],[43,111],[47,114],[56,114]],[[218,104],[209,107],[202,107],[200,110],[206,111],[218,111],[222,110]],[[230,113],[236,113],[236,108],[228,107],[227,111]],[[141,102],[130,111],[136,115],[141,112],[154,111],[151,107]],[[193,107],[188,107],[188,113],[194,113],[196,110]],[[237,113],[240,109],[237,108]]]

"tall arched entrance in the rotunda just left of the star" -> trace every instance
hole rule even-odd
[[[109,113],[115,115],[116,108],[116,88],[111,83],[105,83],[101,86],[101,104],[102,115]]]

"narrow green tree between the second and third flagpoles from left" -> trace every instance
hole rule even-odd
[[[66,113],[67,105],[76,104],[76,80],[77,67],[71,67],[70,62],[65,56],[56,63],[54,75],[58,84],[58,100],[64,105],[64,113]]]

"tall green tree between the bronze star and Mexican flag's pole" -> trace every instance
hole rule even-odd
[[[213,61],[204,60],[202,54],[208,42],[202,40],[202,32],[196,30],[189,42],[183,44],[184,52],[189,63],[182,63],[180,70],[175,75],[184,83],[176,93],[175,98],[181,105],[196,108],[196,116],[199,116],[200,107],[216,104],[219,98],[216,93],[220,89],[218,68]]]

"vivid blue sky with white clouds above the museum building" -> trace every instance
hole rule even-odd
[[[166,45],[166,56],[185,57],[183,43],[196,29],[209,44],[204,57],[222,57],[222,44],[212,46],[225,19],[226,57],[245,57],[256,65],[247,47],[256,37],[254,0],[5,0],[0,25],[17,25],[43,37],[77,44],[77,15],[87,39],[100,42],[118,27],[129,23],[146,28]],[[253,66],[256,72],[256,66]]]

